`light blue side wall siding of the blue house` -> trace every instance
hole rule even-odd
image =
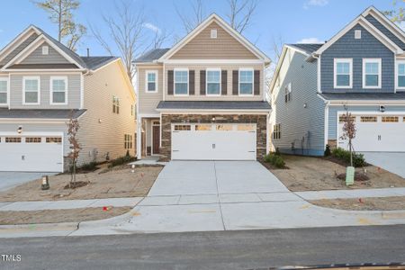
[[[306,56],[288,49],[275,89],[275,107],[271,116],[271,131],[281,125],[281,139],[273,139],[274,148],[299,155],[323,155],[324,103],[317,96],[317,62],[305,61]],[[285,103],[284,89],[291,83],[291,101]],[[306,104],[306,108],[304,108]],[[303,138],[303,143],[302,143]],[[292,146],[294,150],[292,149]]]

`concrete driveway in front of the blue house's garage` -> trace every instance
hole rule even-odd
[[[405,153],[364,152],[365,161],[405,178]]]

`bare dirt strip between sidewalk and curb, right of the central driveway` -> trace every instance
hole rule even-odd
[[[359,199],[332,199],[309,201],[312,204],[343,210],[404,210],[405,197],[376,197]]]

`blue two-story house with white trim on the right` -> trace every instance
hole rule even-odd
[[[321,156],[347,148],[405,151],[405,33],[371,6],[323,44],[284,46],[271,82],[272,148]]]

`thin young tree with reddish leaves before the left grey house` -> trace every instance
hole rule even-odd
[[[80,129],[79,122],[74,118],[73,112],[71,112],[69,121],[67,121],[67,138],[70,144],[69,157],[72,161],[72,170],[70,175],[70,188],[74,188],[76,184],[76,162],[81,150],[80,144],[77,139],[77,131]]]

